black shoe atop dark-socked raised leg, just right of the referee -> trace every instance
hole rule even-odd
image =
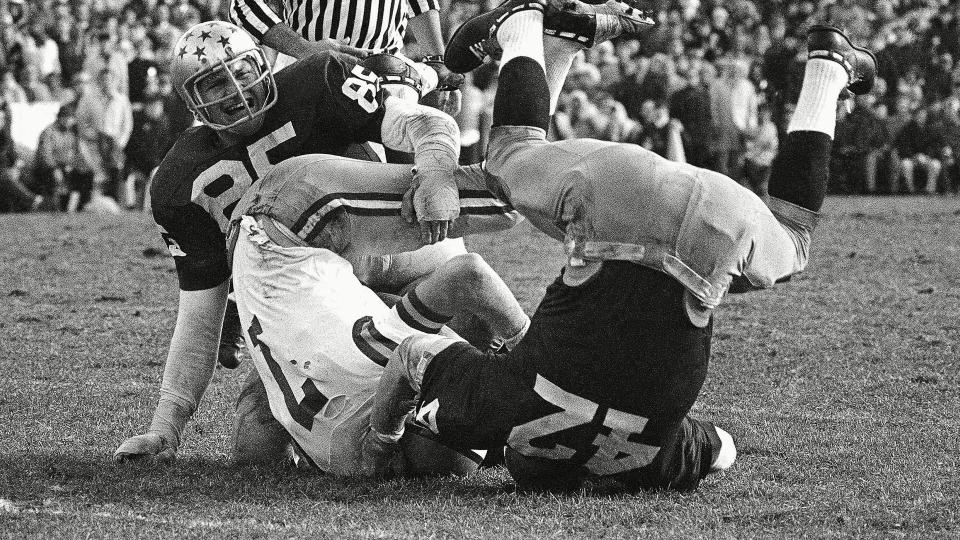
[[[460,25],[450,36],[443,62],[454,73],[473,71],[487,56],[497,58],[500,45],[496,43],[497,28],[507,17],[520,11],[543,11],[546,0],[505,0],[492,10],[477,15]]]

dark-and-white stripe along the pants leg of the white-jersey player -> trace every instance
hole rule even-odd
[[[310,243],[341,212],[356,216],[399,216],[402,199],[400,193],[331,193],[310,205],[290,230]],[[511,212],[510,205],[493,197],[489,191],[460,190],[462,215],[490,216]]]

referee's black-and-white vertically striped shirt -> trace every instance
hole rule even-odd
[[[270,2],[281,4],[282,17]],[[333,38],[391,53],[403,47],[407,19],[431,9],[439,0],[230,0],[230,18],[258,41],[284,22],[308,41]]]

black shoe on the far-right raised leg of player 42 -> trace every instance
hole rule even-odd
[[[850,43],[840,29],[814,25],[807,33],[807,59],[821,58],[837,62],[847,71],[850,93],[866,94],[877,78],[877,58],[873,53]]]

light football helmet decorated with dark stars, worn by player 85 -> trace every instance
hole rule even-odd
[[[252,69],[252,75],[242,80],[235,75],[241,65]],[[205,98],[199,89],[200,83],[221,74],[229,81],[232,91]],[[263,50],[242,28],[223,21],[200,23],[180,36],[173,48],[170,78],[197,119],[217,130],[257,118],[277,102],[277,83]],[[218,123],[210,113],[211,108],[221,105],[242,106],[244,115],[230,123]]]

